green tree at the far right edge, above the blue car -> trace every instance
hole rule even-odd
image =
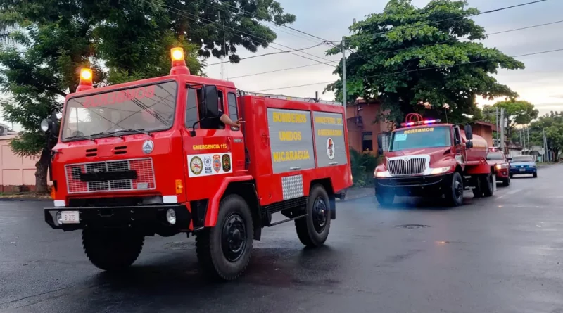
[[[543,146],[543,131],[548,141],[548,149],[553,151],[555,160],[563,150],[563,112],[546,114],[531,123],[530,139],[538,146]]]

